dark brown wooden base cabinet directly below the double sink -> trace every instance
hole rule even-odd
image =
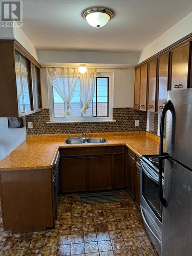
[[[61,148],[61,191],[125,187],[124,146]]]

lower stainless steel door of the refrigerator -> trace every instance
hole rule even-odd
[[[191,256],[192,173],[172,160],[165,160],[161,256]]]

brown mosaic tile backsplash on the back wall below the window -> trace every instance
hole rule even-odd
[[[44,109],[26,116],[26,123],[33,122],[33,129],[28,129],[27,125],[27,134],[146,131],[147,112],[132,108],[114,108],[113,119],[116,122],[47,123],[50,121],[49,109]],[[139,120],[139,126],[135,126],[135,120]]]

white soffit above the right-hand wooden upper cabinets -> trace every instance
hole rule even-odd
[[[184,17],[180,22],[145,47],[139,54],[138,63],[150,58],[190,33],[192,33],[192,13]]]

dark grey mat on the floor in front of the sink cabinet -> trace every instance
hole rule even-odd
[[[92,192],[80,194],[81,204],[94,204],[94,203],[111,203],[119,201],[119,194],[117,191],[106,192]]]

